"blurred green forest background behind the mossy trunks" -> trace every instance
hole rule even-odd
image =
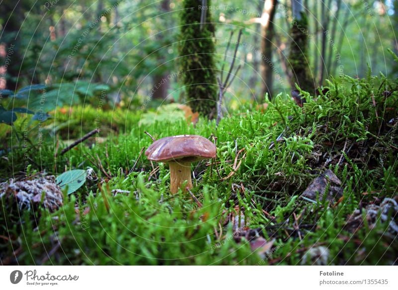
[[[307,64],[315,86],[330,75],[364,77],[368,66],[374,74],[397,72],[386,61],[387,48],[397,51],[397,1],[304,0],[303,6],[309,21],[303,30]],[[180,0],[20,0],[4,2],[0,9],[0,89],[56,84],[58,96],[73,91],[79,96],[74,102],[94,105],[106,90],[104,106],[145,108],[178,102],[183,94],[176,64]],[[228,43],[237,42],[236,33],[229,41],[230,31],[244,28],[236,54],[240,72],[226,104],[233,109],[242,102],[262,102],[266,92],[289,94],[291,1],[214,0],[209,11],[218,68]],[[62,101],[71,100],[59,97],[58,105]]]

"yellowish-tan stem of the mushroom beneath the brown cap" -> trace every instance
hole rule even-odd
[[[192,188],[192,179],[191,179],[191,162],[181,162],[181,161],[171,161],[169,162],[170,166],[170,191],[175,194],[181,188],[181,185],[187,182],[187,186],[189,189]],[[186,191],[183,188],[183,191]]]

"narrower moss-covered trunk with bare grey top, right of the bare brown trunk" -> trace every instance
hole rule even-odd
[[[295,83],[311,94],[314,92],[314,81],[311,77],[308,58],[308,18],[302,10],[302,2],[292,0],[293,23],[290,31],[292,38],[289,54],[289,64],[292,70],[291,84]]]

